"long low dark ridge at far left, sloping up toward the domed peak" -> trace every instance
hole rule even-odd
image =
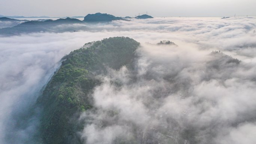
[[[10,28],[1,28],[0,29],[0,34],[4,35],[15,35],[15,34],[20,34],[20,33],[33,33],[33,32],[40,32],[40,31],[56,31],[57,25],[61,24],[81,24],[83,23],[79,19],[75,18],[61,18],[57,20],[46,20],[46,21],[28,21],[24,22],[22,24],[16,25],[14,27]],[[61,31],[73,31],[73,29],[60,29]]]

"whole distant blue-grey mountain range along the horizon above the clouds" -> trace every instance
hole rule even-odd
[[[40,17],[33,17],[33,18],[49,18],[47,16],[40,16]],[[80,16],[77,16],[80,17]],[[23,18],[23,17],[20,17]],[[28,17],[27,17],[28,18]],[[32,17],[30,17],[32,18]],[[131,18],[131,17],[125,17]],[[137,16],[137,19],[146,19],[146,18],[153,18],[149,15],[141,15]],[[67,24],[83,24],[83,23],[100,23],[100,22],[111,22],[115,20],[122,20],[122,21],[130,21],[128,19],[123,19],[121,17],[116,17],[113,15],[109,15],[107,13],[95,13],[95,14],[88,14],[84,17],[83,21],[80,21],[76,18],[60,18],[57,20],[52,19],[38,19],[35,21],[28,21],[28,20],[18,20],[12,19],[7,17],[0,18],[0,21],[9,21],[12,22],[9,26],[1,26],[0,25],[0,34],[5,36],[16,35],[20,33],[34,33],[34,32],[65,32],[65,31],[76,31],[75,28],[70,27],[59,27],[56,28],[58,25],[67,25]],[[81,29],[82,28],[82,29]],[[86,25],[80,26],[78,30],[85,30]]]

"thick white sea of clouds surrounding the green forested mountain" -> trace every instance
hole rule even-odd
[[[147,131],[149,124],[171,126],[167,119],[181,131],[192,129],[198,143],[256,143],[256,18],[132,19],[53,29],[0,37],[0,143],[30,143],[38,120],[17,126],[20,116],[35,103],[61,58],[114,36],[141,43],[136,69],[110,69],[99,76],[103,83],[92,94],[97,110],[80,117],[91,120],[79,132],[86,143],[112,144],[132,135],[127,123]],[[71,29],[76,32],[58,33]],[[160,40],[178,46],[155,45]],[[211,53],[215,50],[225,54]],[[102,127],[101,121],[108,125]]]

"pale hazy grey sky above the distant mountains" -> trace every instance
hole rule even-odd
[[[0,0],[0,15],[256,16],[256,0]]]

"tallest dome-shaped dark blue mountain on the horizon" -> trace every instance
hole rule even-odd
[[[126,19],[122,19],[120,17],[109,15],[107,13],[88,14],[85,16],[83,21],[84,22],[110,22],[110,21],[115,21],[115,20],[127,21]]]

